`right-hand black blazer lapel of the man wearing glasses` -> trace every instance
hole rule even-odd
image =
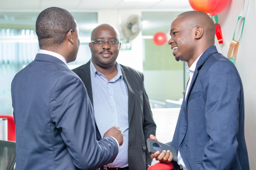
[[[132,85],[133,82],[131,81],[129,74],[128,73],[126,74],[125,67],[123,67],[121,64],[119,65],[121,68],[123,79],[126,83],[127,90],[128,90],[128,118],[129,118],[129,124],[130,124],[132,113],[133,113],[134,101],[135,101],[135,94],[134,94],[134,89]]]

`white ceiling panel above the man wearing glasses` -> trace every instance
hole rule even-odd
[[[111,9],[123,0],[83,0],[77,9]]]

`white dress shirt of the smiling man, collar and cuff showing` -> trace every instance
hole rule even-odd
[[[199,60],[199,58],[201,57],[201,55],[196,59],[196,61],[189,67],[189,69],[187,71],[187,72],[189,72],[189,81],[188,81],[188,85],[187,85],[187,88],[186,88],[185,101],[186,101],[188,90],[189,90],[189,87],[190,87],[190,84],[191,84],[191,81],[192,81],[192,78],[193,78],[193,75],[194,75],[194,72],[195,72],[195,69],[196,69],[196,63]],[[185,163],[183,162],[179,151],[178,151],[178,162],[177,163],[179,164],[180,169],[183,168],[183,170],[187,170],[187,168],[185,166]]]

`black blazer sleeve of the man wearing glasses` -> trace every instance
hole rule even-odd
[[[147,93],[145,91],[144,87],[144,75],[142,74],[142,92],[143,92],[143,115],[144,115],[144,123],[143,123],[143,132],[144,132],[144,137],[145,141],[147,138],[149,138],[149,135],[156,135],[156,124],[153,120],[153,115],[151,112],[149,100]],[[150,158],[150,153],[146,151],[146,163],[148,165],[151,164],[152,159]]]

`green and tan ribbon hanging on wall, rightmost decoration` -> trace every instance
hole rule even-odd
[[[248,5],[249,5],[249,0],[244,0],[244,3],[243,3],[243,8],[240,12],[240,16],[238,17],[238,20],[236,22],[236,26],[235,26],[235,31],[236,31],[236,27],[237,27],[237,24],[238,24],[238,21],[242,18],[243,19],[243,25],[242,25],[242,31],[241,31],[241,35],[239,37],[239,40],[235,40],[235,31],[234,31],[234,35],[233,35],[233,38],[232,38],[232,42],[230,43],[230,47],[229,47],[229,51],[228,51],[228,58],[230,59],[230,61],[235,64],[235,59],[236,59],[236,56],[237,56],[237,52],[238,52],[238,48],[239,48],[239,42],[240,42],[240,39],[242,37],[242,34],[243,34],[243,30],[244,30],[244,25],[245,25],[245,17],[246,17],[246,13],[247,13],[247,9],[248,9]],[[233,55],[231,57],[231,54],[233,52]]]

